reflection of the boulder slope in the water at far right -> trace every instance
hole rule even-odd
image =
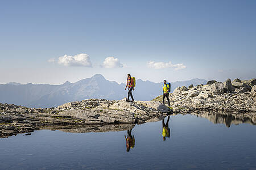
[[[227,113],[193,113],[199,117],[207,118],[213,124],[225,124],[228,128],[238,124],[251,124],[256,125],[256,114],[255,113],[243,113],[243,114],[227,114]]]

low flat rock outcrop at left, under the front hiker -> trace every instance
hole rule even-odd
[[[126,126],[118,124],[143,124],[171,112],[159,101],[88,99],[46,109],[0,103],[0,137],[59,125],[86,125],[81,131],[90,131],[90,127],[95,131],[112,131]]]

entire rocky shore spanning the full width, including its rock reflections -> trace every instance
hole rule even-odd
[[[171,107],[152,101],[86,99],[56,108],[26,108],[0,103],[0,138],[34,130],[72,133],[128,130],[135,124],[162,120],[168,114],[196,114],[214,123],[256,124],[256,79],[209,81],[197,87],[177,87]]]

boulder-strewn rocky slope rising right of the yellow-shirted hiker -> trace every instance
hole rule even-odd
[[[154,101],[162,101],[162,96]],[[170,94],[171,107],[179,113],[201,111],[246,113],[256,112],[256,79],[231,82],[210,80],[197,87],[177,87]],[[167,101],[166,101],[167,102]]]

